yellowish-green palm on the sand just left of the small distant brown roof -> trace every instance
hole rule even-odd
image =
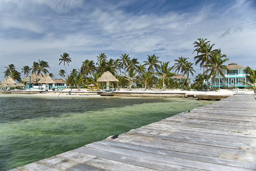
[[[156,68],[156,72],[154,73],[162,77],[163,91],[166,91],[165,84],[164,84],[165,78],[175,76],[176,74],[171,72],[172,67],[168,67],[169,62],[160,62],[160,64],[161,65]]]

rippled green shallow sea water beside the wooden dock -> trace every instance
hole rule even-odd
[[[0,94],[0,171],[157,122],[210,101]]]

